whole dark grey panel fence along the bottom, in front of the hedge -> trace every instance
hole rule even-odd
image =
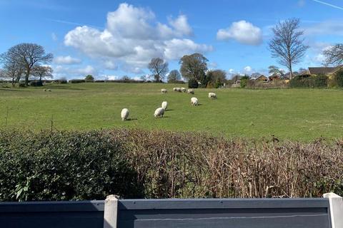
[[[330,200],[115,199],[111,204],[107,199],[1,202],[0,227],[339,228],[332,224]],[[341,202],[342,198],[339,200]]]

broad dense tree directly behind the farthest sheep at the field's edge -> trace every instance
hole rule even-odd
[[[190,56],[183,56],[179,63],[181,64],[180,72],[183,78],[194,78],[197,82],[206,81],[205,72],[207,71],[207,58],[200,53],[194,53]],[[205,85],[206,86],[206,85]]]

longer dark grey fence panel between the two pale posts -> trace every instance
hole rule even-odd
[[[118,227],[329,228],[327,199],[121,199]]]

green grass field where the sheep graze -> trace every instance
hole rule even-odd
[[[57,130],[147,128],[206,131],[215,135],[308,141],[343,135],[343,90],[197,89],[193,95],[172,91],[173,84],[81,83],[44,88],[0,88],[0,128]],[[161,88],[169,93],[161,94]],[[207,93],[217,93],[217,100]],[[169,103],[164,118],[154,110]],[[121,121],[129,108],[129,121]],[[8,115],[7,115],[8,112]],[[6,116],[8,117],[6,120]]]

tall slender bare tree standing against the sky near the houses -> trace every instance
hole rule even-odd
[[[279,22],[272,31],[274,38],[269,41],[269,50],[273,58],[288,68],[290,79],[293,77],[292,65],[302,61],[309,46],[304,45],[304,31],[299,30],[299,19],[288,19]]]

